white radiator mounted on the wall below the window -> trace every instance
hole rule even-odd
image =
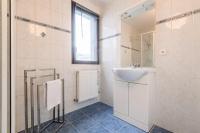
[[[82,70],[76,72],[76,102],[98,97],[98,71]]]

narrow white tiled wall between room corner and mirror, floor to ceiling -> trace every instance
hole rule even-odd
[[[121,33],[121,14],[133,7],[140,0],[114,0],[107,7],[105,6],[102,15],[101,38]],[[101,72],[102,72],[102,95],[101,100],[113,105],[113,72],[114,67],[120,66],[120,41],[121,36],[101,41]]]

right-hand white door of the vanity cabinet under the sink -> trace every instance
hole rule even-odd
[[[129,116],[143,124],[147,124],[148,99],[148,85],[129,84]]]

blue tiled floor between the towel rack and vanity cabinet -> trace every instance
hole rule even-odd
[[[65,124],[58,133],[145,133],[113,116],[113,109],[103,103],[96,103],[65,116]],[[59,125],[52,125],[44,133],[53,133]],[[165,131],[165,130],[163,130]],[[153,133],[162,132],[160,128]]]

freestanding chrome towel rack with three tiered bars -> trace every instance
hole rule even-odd
[[[59,74],[56,74],[56,69],[55,68],[45,68],[45,69],[38,69],[39,71],[52,71],[53,74],[49,74],[49,75],[39,75],[39,76],[34,76],[34,77],[29,77],[28,73],[30,72],[36,72],[36,69],[32,69],[32,70],[24,70],[24,106],[25,106],[25,133],[28,133],[28,78],[30,78],[30,103],[31,103],[31,133],[34,133],[34,80],[35,79],[42,79],[42,78],[47,78],[47,77],[53,77],[53,79],[59,79],[60,76]],[[65,106],[64,106],[64,79],[62,80],[62,120],[60,120],[60,104],[57,106],[57,120],[56,120],[56,108],[53,108],[53,121],[51,123],[49,123],[48,125],[46,125],[44,128],[41,129],[41,123],[40,123],[40,93],[39,93],[39,89],[40,87],[46,87],[46,85],[44,86],[43,84],[36,84],[37,86],[37,93],[36,93],[36,98],[37,98],[37,132],[41,133],[43,132],[46,128],[48,128],[51,124],[53,123],[60,123],[61,125],[55,130],[55,132],[57,132],[63,125],[64,125],[64,113],[65,113]]]

